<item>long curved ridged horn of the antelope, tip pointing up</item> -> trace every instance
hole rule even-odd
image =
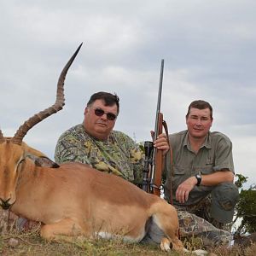
[[[82,43],[83,44],[83,43]],[[34,125],[37,125],[42,120],[49,117],[51,114],[56,113],[62,109],[65,105],[64,98],[64,81],[66,78],[67,70],[72,65],[73,60],[79,53],[79,49],[82,44],[79,45],[79,48],[75,51],[73,56],[67,62],[66,66],[63,68],[60,78],[57,84],[57,93],[56,93],[56,101],[55,104],[49,108],[44,109],[43,111],[36,113],[30,119],[27,119],[23,125],[20,125],[20,128],[16,131],[15,136],[11,138],[11,142],[15,144],[21,144],[23,137],[25,137],[26,132],[29,131]]]

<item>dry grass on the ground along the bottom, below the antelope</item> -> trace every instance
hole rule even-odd
[[[196,240],[184,241],[188,249],[199,248]],[[216,247],[208,250],[209,255],[221,256],[253,256],[256,255],[256,244],[251,247],[233,246],[230,248]],[[211,254],[212,253],[212,254]],[[213,254],[214,253],[214,254]],[[0,222],[0,255],[177,255],[175,252],[165,253],[160,251],[159,245],[128,244],[120,240],[106,241],[102,239],[72,242],[45,241],[39,234],[39,229],[32,231],[18,231],[14,224],[7,227]],[[192,255],[186,253],[186,255]]]

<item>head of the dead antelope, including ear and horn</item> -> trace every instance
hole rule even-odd
[[[81,46],[82,44],[79,45],[79,48],[75,51],[61,72],[57,83],[55,104],[27,119],[23,125],[20,125],[14,137],[3,137],[3,132],[0,130],[0,205],[3,209],[8,209],[15,203],[15,188],[19,180],[20,172],[22,172],[22,168],[24,168],[26,156],[28,154],[39,157],[44,156],[40,151],[27,146],[22,140],[27,131],[34,125],[37,125],[51,114],[63,108],[65,104],[64,81],[67,70],[72,65],[76,55],[78,55]]]

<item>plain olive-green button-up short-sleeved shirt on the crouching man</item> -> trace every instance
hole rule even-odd
[[[165,170],[165,197],[167,201],[170,201],[171,180],[173,203],[180,205],[175,200],[175,192],[177,186],[187,178],[198,173],[205,175],[218,171],[234,172],[232,143],[223,133],[209,131],[205,143],[203,143],[197,154],[191,148],[187,130],[174,133],[169,138],[172,145],[173,163],[171,165],[170,154],[167,154]],[[195,205],[211,190],[212,187],[209,186],[195,186],[189,193],[189,200],[183,205]]]

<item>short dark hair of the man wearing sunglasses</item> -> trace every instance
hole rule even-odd
[[[90,96],[89,102],[87,102],[87,107],[90,107],[93,102],[96,100],[102,100],[105,102],[105,106],[112,107],[113,105],[117,106],[117,112],[119,113],[119,96],[115,93],[109,93],[106,91],[99,91]]]

